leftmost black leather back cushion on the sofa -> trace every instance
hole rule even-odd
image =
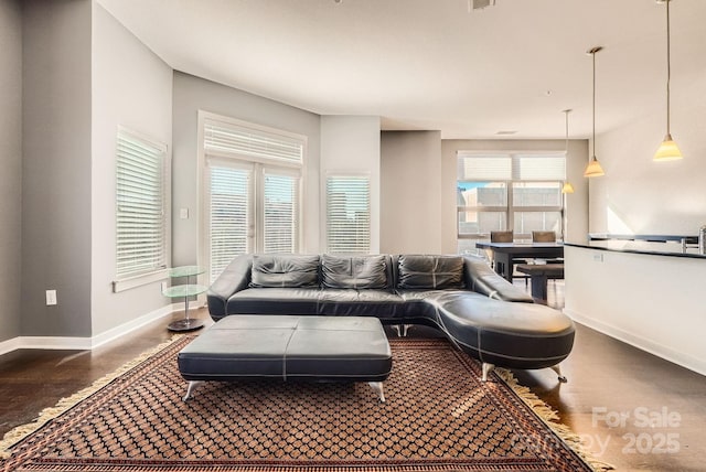
[[[253,256],[250,287],[315,287],[318,282],[319,256]]]

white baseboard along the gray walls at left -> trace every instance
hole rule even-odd
[[[0,355],[15,350],[76,350],[87,351],[101,346],[118,337],[138,330],[146,324],[171,315],[174,311],[183,310],[183,303],[173,303],[136,318],[92,337],[72,336],[18,336],[0,342]]]

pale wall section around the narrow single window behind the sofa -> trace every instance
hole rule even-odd
[[[367,173],[371,179],[371,254],[379,253],[381,170],[379,117],[321,117],[321,208],[325,179],[333,173]],[[320,216],[319,251],[325,249],[325,211]]]

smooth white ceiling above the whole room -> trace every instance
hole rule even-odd
[[[171,67],[445,139],[573,138],[665,115],[655,0],[98,0]],[[706,79],[706,0],[672,0],[672,95]],[[672,106],[674,121],[678,110]],[[504,137],[506,138],[506,137]],[[659,138],[655,138],[659,140]]]

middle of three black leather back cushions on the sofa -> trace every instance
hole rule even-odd
[[[384,289],[385,256],[321,256],[321,283],[331,289]]]

